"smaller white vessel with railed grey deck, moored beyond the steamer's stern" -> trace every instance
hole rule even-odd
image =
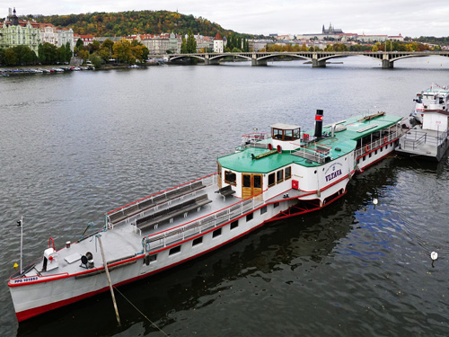
[[[414,101],[410,129],[400,138],[396,151],[439,162],[449,147],[449,89],[432,84]]]

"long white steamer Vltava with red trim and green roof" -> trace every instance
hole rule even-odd
[[[275,124],[245,135],[217,159],[217,173],[107,213],[100,232],[16,272],[8,286],[19,321],[166,270],[343,196],[353,174],[389,155],[401,118],[379,112],[315,130]],[[98,244],[97,244],[98,242]],[[104,258],[102,257],[104,256]],[[107,270],[106,270],[107,268]]]

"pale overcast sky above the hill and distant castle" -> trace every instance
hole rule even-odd
[[[139,10],[178,11],[223,28],[251,34],[316,33],[331,23],[357,34],[449,36],[449,0],[21,0],[21,14],[70,14]],[[8,14],[2,9],[0,17]]]

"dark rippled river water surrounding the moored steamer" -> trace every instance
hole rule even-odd
[[[316,109],[326,122],[408,116],[416,93],[449,84],[448,68],[438,57],[393,69],[356,57],[326,68],[242,62],[0,79],[0,335],[448,335],[447,157],[392,155],[319,212],[119,288],[120,327],[109,293],[19,325],[7,287],[22,214],[25,263],[49,236],[60,248],[111,209],[214,173],[216,157],[254,128],[312,129]]]

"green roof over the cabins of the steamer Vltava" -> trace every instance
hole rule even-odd
[[[375,117],[371,120],[362,120],[363,118],[364,116],[356,116],[337,122],[337,124],[346,126],[347,129],[336,132],[334,137],[321,138],[316,142],[316,145],[330,148],[329,156],[333,160],[354,151],[357,146],[357,139],[370,135],[375,131],[391,127],[401,120],[401,117],[388,115]],[[323,134],[330,134],[330,125],[323,127],[322,131]],[[313,131],[308,133],[313,134]],[[294,151],[283,151],[282,153],[272,155],[267,154],[260,159],[253,159],[253,156],[267,152],[269,150],[265,148],[247,147],[241,152],[218,158],[218,163],[226,169],[240,173],[270,173],[294,163],[311,167],[324,164],[318,164],[303,157],[292,155]]]

